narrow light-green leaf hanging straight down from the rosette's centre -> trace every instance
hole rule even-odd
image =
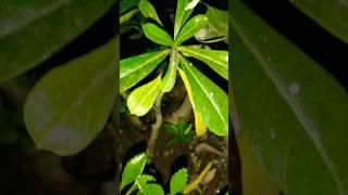
[[[162,81],[162,92],[172,91],[176,81],[176,69],[178,65],[177,50],[172,49],[170,65]]]

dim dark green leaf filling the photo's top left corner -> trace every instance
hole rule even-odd
[[[1,1],[0,82],[48,60],[84,32],[114,0]]]

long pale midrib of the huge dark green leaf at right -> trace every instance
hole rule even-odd
[[[277,78],[276,74],[272,72],[271,68],[268,67],[268,60],[262,55],[262,53],[259,51],[258,47],[252,43],[252,41],[249,39],[248,35],[243,30],[239,23],[232,18],[231,24],[234,28],[234,30],[239,35],[240,39],[245,43],[245,46],[250,50],[251,54],[257,58],[257,61],[260,63],[262,69],[264,70],[265,75],[272,80],[273,84],[277,89],[279,95],[284,98],[284,100],[288,103],[289,108],[295,114],[295,117],[300,122],[300,125],[303,127],[304,131],[309,135],[310,140],[313,142],[315,148],[319,151],[324,164],[326,165],[328,172],[333,177],[337,191],[339,194],[345,194],[344,191],[344,184],[340,181],[334,165],[332,162],[332,159],[326,152],[326,148],[324,147],[320,135],[318,134],[318,129],[314,126],[313,121],[310,119],[309,116],[306,115],[306,112],[302,110],[300,105],[295,99],[291,99],[291,96],[287,93],[285,88],[281,84],[282,80]]]

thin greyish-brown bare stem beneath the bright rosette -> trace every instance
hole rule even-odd
[[[162,96],[163,94],[160,93],[157,96],[154,102],[156,122],[151,126],[151,135],[147,146],[147,154],[150,157],[153,157],[156,140],[157,140],[157,136],[159,135],[160,128],[162,127],[162,123],[163,123],[162,112],[161,112]]]

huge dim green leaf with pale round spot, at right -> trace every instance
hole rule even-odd
[[[346,195],[347,92],[240,1],[233,2],[235,100],[257,157],[284,194]]]

